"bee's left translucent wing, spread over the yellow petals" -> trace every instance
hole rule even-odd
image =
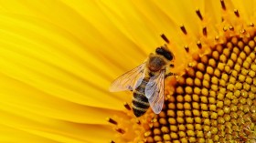
[[[110,91],[117,92],[123,90],[133,90],[134,88],[139,87],[144,79],[144,66],[145,63],[116,78],[112,82]]]

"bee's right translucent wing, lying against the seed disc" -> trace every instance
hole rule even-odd
[[[158,76],[151,77],[145,87],[145,97],[155,114],[159,114],[164,105],[165,97],[165,70]]]

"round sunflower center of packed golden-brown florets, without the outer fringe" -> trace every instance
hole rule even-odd
[[[256,36],[231,36],[180,77],[154,118],[147,142],[225,142],[256,138]]]

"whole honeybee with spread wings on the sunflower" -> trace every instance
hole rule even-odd
[[[155,54],[151,53],[142,65],[115,79],[110,91],[133,91],[132,107],[136,117],[143,116],[149,107],[159,114],[164,105],[165,77],[173,75],[165,74],[165,68],[173,59],[167,46],[157,47]]]

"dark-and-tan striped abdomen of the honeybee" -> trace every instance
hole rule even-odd
[[[148,79],[144,78],[142,84],[133,91],[133,113],[136,117],[144,115],[149,107],[148,99],[144,95],[144,89]]]

